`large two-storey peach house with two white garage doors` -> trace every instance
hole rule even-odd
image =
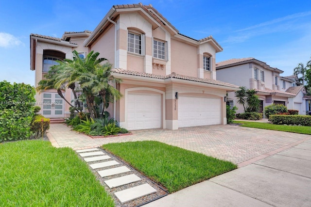
[[[227,92],[238,86],[216,80],[216,53],[223,48],[212,36],[196,40],[178,30],[151,5],[115,5],[93,32],[65,32],[62,38],[31,34],[31,70],[35,85],[55,60],[100,52],[113,64],[115,87],[123,98],[108,111],[129,130],[178,129],[226,124]],[[64,96],[72,98],[67,89]],[[60,101],[55,91],[37,101]],[[50,102],[49,102],[50,103]],[[47,117],[69,116],[69,105],[48,105]]]

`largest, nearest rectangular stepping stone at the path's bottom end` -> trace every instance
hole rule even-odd
[[[115,195],[120,200],[121,204],[140,198],[145,195],[156,192],[156,190],[148,183],[129,188],[123,191],[115,192]]]

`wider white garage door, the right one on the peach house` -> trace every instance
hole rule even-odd
[[[220,98],[179,96],[178,127],[221,124]]]

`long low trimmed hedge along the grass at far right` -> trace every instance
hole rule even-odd
[[[311,116],[306,115],[270,115],[269,121],[277,125],[311,126]]]

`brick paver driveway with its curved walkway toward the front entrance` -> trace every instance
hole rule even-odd
[[[66,125],[53,124],[48,136],[54,146],[73,149],[97,147],[104,143],[155,140],[232,161],[239,167],[311,139],[311,135],[233,125],[137,130],[132,135],[92,139],[71,131]]]

